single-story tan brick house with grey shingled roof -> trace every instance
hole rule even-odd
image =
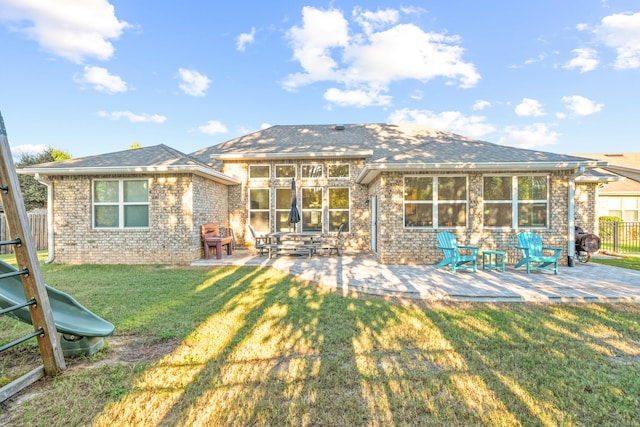
[[[433,264],[436,233],[519,254],[533,230],[573,255],[576,177],[606,163],[478,141],[416,124],[273,126],[190,155],[126,150],[30,166],[49,186],[50,258],[62,263],[189,263],[202,256],[200,225],[219,222],[237,246],[289,230],[336,233],[346,249],[382,263]],[[580,205],[579,205],[580,207]],[[571,230],[571,232],[570,232]]]

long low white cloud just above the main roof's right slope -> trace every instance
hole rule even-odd
[[[389,116],[391,123],[416,122],[434,129],[458,133],[473,138],[481,138],[495,131],[495,128],[484,123],[483,116],[465,116],[458,111],[434,113],[429,110],[396,110]]]

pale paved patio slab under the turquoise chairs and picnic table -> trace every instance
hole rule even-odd
[[[576,263],[552,272],[526,274],[507,265],[477,273],[435,269],[431,265],[385,265],[370,253],[342,256],[284,256],[268,259],[234,250],[222,259],[198,260],[193,266],[272,267],[302,280],[345,292],[397,298],[484,302],[640,302],[640,271],[594,263]]]

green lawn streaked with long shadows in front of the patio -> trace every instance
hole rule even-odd
[[[248,267],[54,264],[43,274],[113,322],[112,341],[172,345],[147,361],[102,364],[115,353],[111,345],[71,361],[12,409],[13,425],[631,426],[640,419],[639,305],[394,301]],[[21,328],[30,327],[0,318],[0,343]],[[35,350],[25,344],[9,357]],[[9,414],[0,408],[2,420]]]

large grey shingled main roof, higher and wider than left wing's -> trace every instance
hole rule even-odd
[[[606,163],[479,141],[415,123],[286,125],[253,132],[192,153],[202,162],[363,158],[357,182],[382,171],[548,170]]]

